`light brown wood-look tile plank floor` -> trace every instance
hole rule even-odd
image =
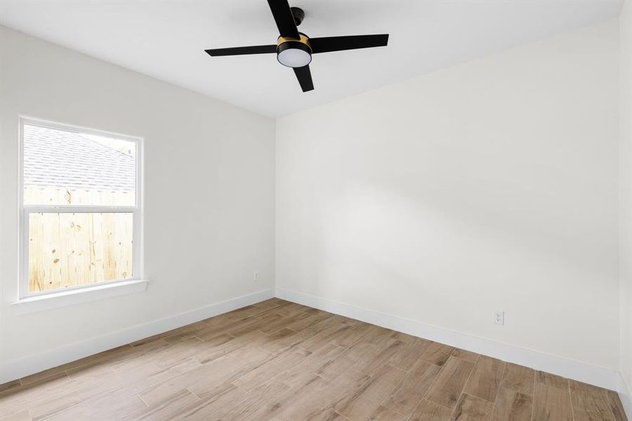
[[[626,420],[614,392],[276,298],[0,390],[2,421]]]

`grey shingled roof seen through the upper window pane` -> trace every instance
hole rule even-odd
[[[25,186],[131,192],[136,159],[79,133],[24,125]]]

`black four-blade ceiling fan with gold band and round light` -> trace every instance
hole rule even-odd
[[[298,7],[290,7],[287,0],[268,0],[272,16],[277,22],[279,38],[277,44],[234,48],[213,48],[205,50],[211,56],[276,53],[277,60],[284,66],[292,67],[303,92],[312,91],[314,83],[310,72],[312,54],[331,51],[354,50],[356,48],[383,47],[388,44],[388,34],[324,36],[310,38],[298,32],[305,12]]]

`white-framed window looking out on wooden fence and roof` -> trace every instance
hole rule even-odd
[[[140,278],[140,139],[20,120],[20,298]]]

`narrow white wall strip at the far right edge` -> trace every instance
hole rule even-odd
[[[620,114],[619,145],[621,207],[620,218],[620,282],[621,282],[621,373],[632,411],[632,1],[625,2],[619,17]]]

